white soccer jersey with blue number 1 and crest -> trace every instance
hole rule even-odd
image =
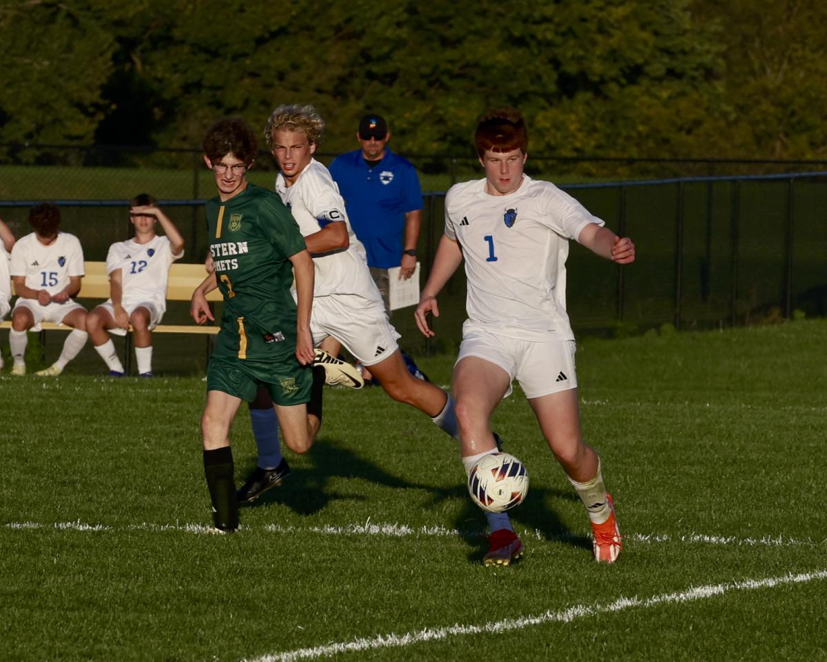
[[[452,186],[445,234],[466,263],[469,323],[525,340],[574,339],[566,314],[568,240],[604,222],[547,181],[491,195],[485,180]]]

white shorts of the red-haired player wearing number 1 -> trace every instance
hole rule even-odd
[[[519,381],[529,399],[577,387],[573,340],[544,342],[495,335],[484,329],[463,329],[457,363],[465,357],[479,357],[508,372]],[[503,397],[511,394],[511,386]]]

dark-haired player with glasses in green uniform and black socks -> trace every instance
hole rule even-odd
[[[198,324],[213,319],[206,295],[221,290],[221,330],[209,361],[201,430],[213,523],[232,531],[238,502],[228,434],[241,401],[264,390],[289,449],[304,453],[312,444],[306,403],[313,382],[313,260],[279,196],[246,179],[256,156],[251,127],[222,120],[203,149],[218,188],[205,207],[213,272],[194,291],[190,314]],[[324,371],[318,372],[321,386]]]

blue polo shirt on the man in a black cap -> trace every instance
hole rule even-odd
[[[333,159],[330,174],[345,199],[353,232],[365,244],[369,266],[399,266],[405,213],[423,208],[414,165],[385,147],[385,157],[369,168],[361,150]]]

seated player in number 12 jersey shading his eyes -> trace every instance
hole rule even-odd
[[[86,330],[109,367],[109,376],[123,377],[121,360],[107,332],[123,336],[131,325],[138,375],[152,377],[152,329],[164,316],[170,265],[184,255],[184,237],[151,195],[137,195],[129,205],[135,236],[109,247],[110,298],[89,311]],[[165,235],[155,234],[156,222]]]

